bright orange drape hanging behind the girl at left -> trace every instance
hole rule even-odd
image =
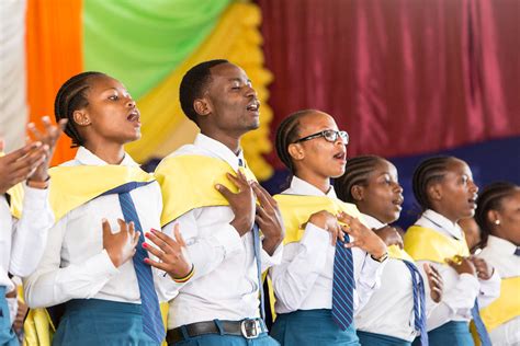
[[[83,69],[81,0],[29,0],[26,64],[30,122],[44,115],[54,120],[54,99],[59,86]],[[63,136],[53,164],[69,160],[75,150]]]

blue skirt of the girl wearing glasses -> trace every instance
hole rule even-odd
[[[328,309],[279,314],[271,336],[285,346],[360,345],[353,323],[347,331],[341,331]]]

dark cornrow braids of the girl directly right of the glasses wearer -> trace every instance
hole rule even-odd
[[[347,161],[344,174],[335,178],[334,188],[339,199],[355,204],[352,196],[352,187],[354,185],[365,186],[369,183],[369,175],[377,165],[384,161],[383,158],[376,155],[360,155]]]

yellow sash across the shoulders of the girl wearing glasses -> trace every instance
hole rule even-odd
[[[344,211],[351,217],[359,218],[360,211],[355,205],[343,203],[327,196],[275,195],[285,226],[284,244],[298,242],[305,231],[304,223],[318,211],[327,210],[332,215]]]

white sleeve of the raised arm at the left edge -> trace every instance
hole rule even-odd
[[[48,204],[48,188],[32,188],[24,184],[23,211],[14,220],[9,272],[30,275],[42,258],[54,216]]]

